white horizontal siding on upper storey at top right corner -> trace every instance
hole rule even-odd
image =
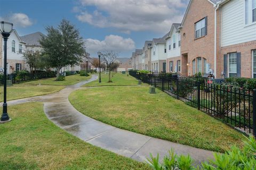
[[[245,25],[245,1],[233,0],[222,7],[221,46],[256,40],[256,23]]]

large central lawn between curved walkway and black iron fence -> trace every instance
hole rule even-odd
[[[213,151],[242,146],[243,135],[213,117],[149,87],[94,87],[74,91],[81,113],[121,129]]]

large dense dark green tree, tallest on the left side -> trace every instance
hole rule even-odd
[[[83,38],[78,29],[67,20],[62,20],[58,28],[46,27],[47,36],[42,37],[39,43],[43,47],[43,54],[49,55],[51,67],[57,69],[57,80],[60,69],[68,65],[82,62],[85,53]]]

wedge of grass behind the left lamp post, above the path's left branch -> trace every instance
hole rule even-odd
[[[46,95],[60,91],[65,86],[30,86],[28,84],[14,84],[7,87],[7,100],[14,100],[32,96]],[[0,87],[0,101],[4,100],[4,88]]]

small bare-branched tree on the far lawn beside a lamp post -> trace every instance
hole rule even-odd
[[[112,71],[112,66],[115,63],[118,54],[114,51],[106,51],[106,52],[102,53],[102,56],[107,65],[107,70],[108,70],[108,74],[109,74],[108,82],[112,82],[111,77],[110,77],[110,72]]]

